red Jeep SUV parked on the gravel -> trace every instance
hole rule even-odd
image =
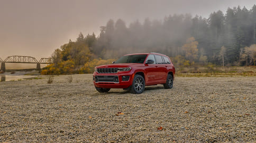
[[[172,88],[175,67],[168,56],[158,53],[124,55],[111,65],[95,67],[93,83],[97,91],[123,88],[141,94],[145,86],[163,84]]]

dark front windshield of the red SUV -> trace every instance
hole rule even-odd
[[[127,55],[123,56],[120,59],[117,59],[116,63],[144,63],[145,58],[147,55]]]

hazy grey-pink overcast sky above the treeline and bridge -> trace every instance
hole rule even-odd
[[[84,35],[99,34],[109,19],[126,22],[163,19],[170,14],[209,15],[252,0],[0,0],[0,58],[11,55],[49,57],[53,50]]]

